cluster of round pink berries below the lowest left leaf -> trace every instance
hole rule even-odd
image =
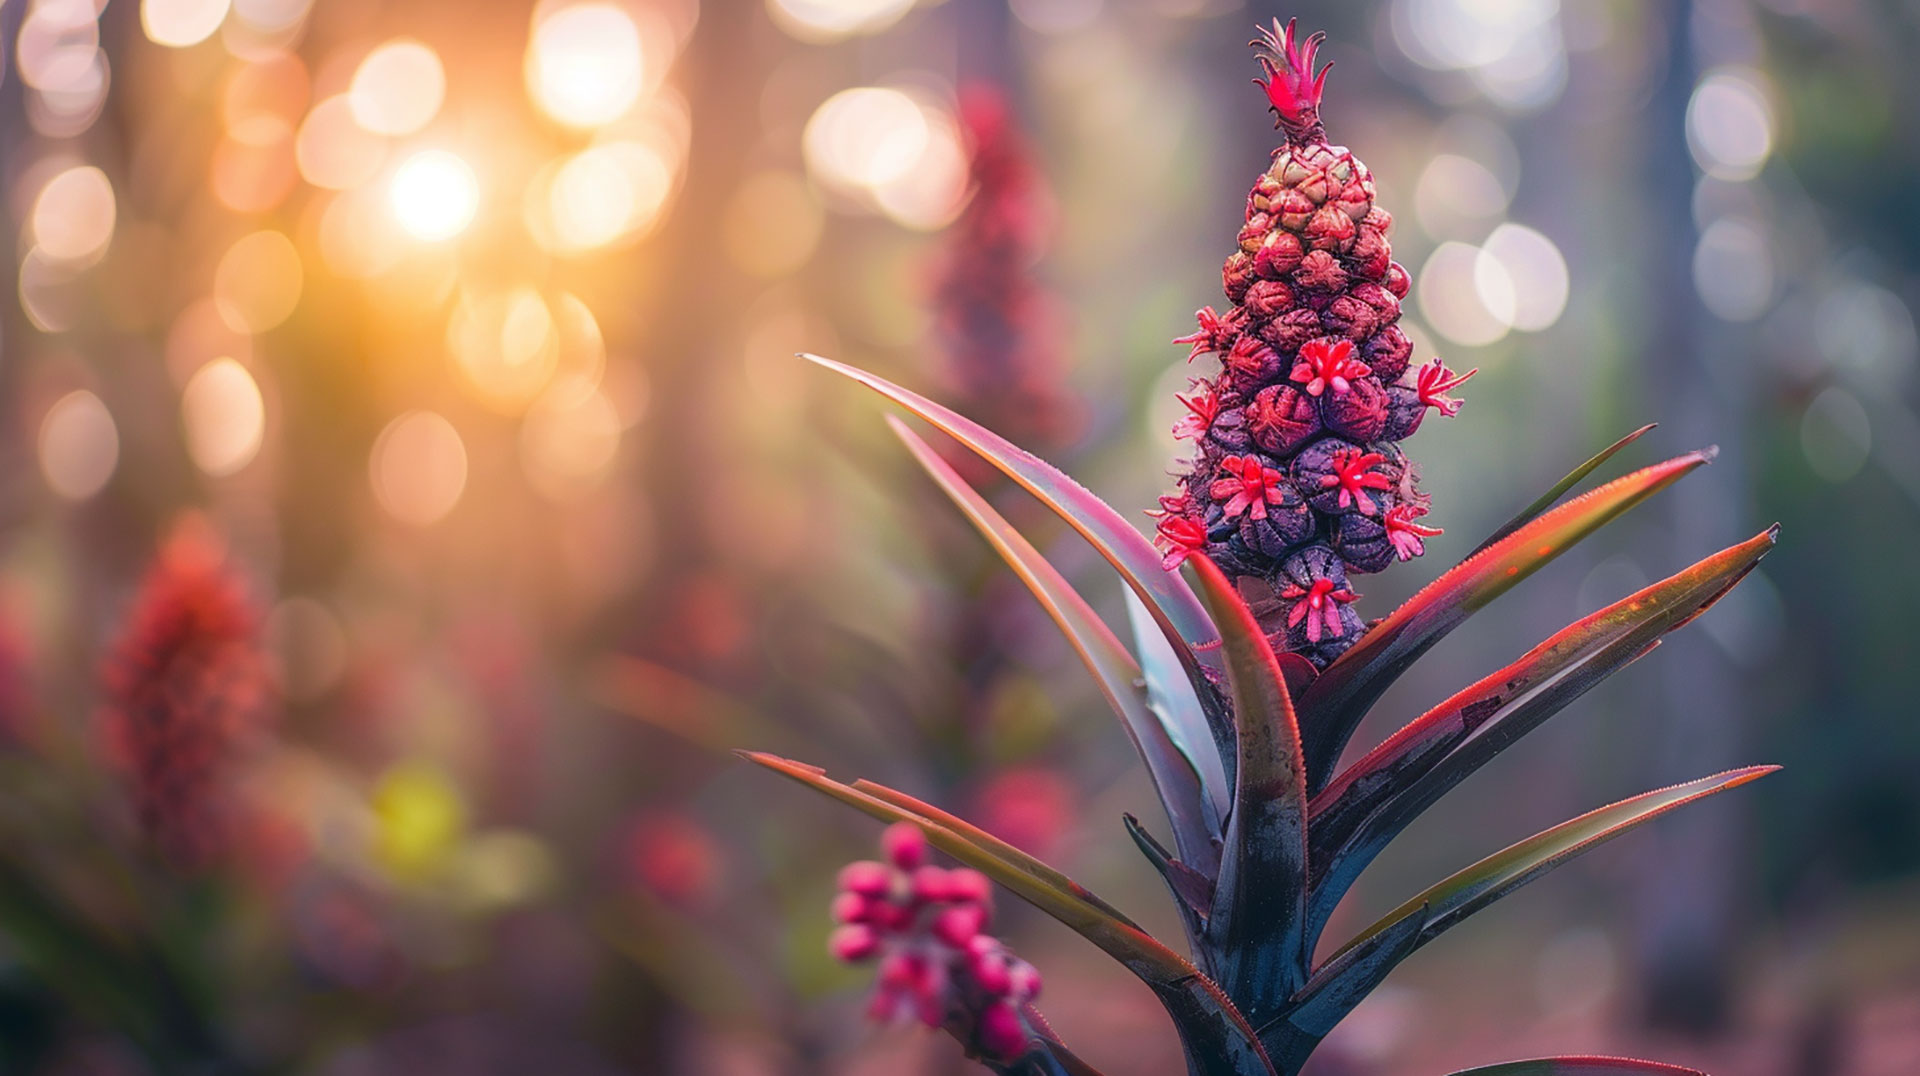
[[[1041,974],[985,932],[987,876],[927,863],[927,840],[910,822],[887,828],[881,853],[881,863],[841,870],[833,897],[841,926],[828,942],[835,959],[877,966],[868,1015],[947,1028],[981,1057],[1025,1053]]]

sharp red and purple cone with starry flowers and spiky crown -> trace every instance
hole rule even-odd
[[[1181,396],[1175,436],[1194,440],[1179,490],[1160,501],[1167,563],[1204,551],[1236,576],[1275,649],[1319,667],[1361,632],[1350,575],[1411,559],[1438,528],[1402,453],[1428,407],[1459,409],[1440,359],[1413,369],[1400,329],[1409,277],[1373,173],[1327,142],[1319,119],[1323,35],[1261,31],[1256,48],[1284,142],[1246,198],[1223,282],[1233,307],[1198,313],[1188,361],[1221,359]],[[1331,65],[1329,65],[1331,67]]]

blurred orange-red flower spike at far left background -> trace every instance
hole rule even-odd
[[[213,534],[188,525],[159,551],[104,684],[102,728],[140,828],[175,867],[207,867],[227,847],[234,767],[267,701],[253,605]]]

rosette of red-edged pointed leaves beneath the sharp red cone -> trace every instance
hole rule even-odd
[[[1098,682],[1165,809],[1169,840],[1125,828],[1167,884],[1185,953],[1060,870],[931,803],[868,780],[766,755],[749,761],[887,822],[914,822],[941,851],[1068,924],[1165,1005],[1192,1076],[1292,1076],[1321,1039],[1421,945],[1517,888],[1642,822],[1747,784],[1749,767],[1645,792],[1534,834],[1409,897],[1332,947],[1340,897],[1405,826],[1523,734],[1655,649],[1718,601],[1774,546],[1776,528],[1607,605],[1432,705],[1359,761],[1338,759],[1359,721],[1428,648],[1572,544],[1705,465],[1690,452],[1567,498],[1647,428],[1576,467],[1405,605],[1363,624],[1325,667],[1277,649],[1229,575],[1194,550],[1173,571],[1121,513],[966,417],[870,373],[808,355],[927,421],[1008,475],[1119,573],[1133,646],[1066,576],[899,419],[895,434],[1027,584]],[[1565,500],[1563,500],[1565,498]],[[1002,1074],[1098,1074],[1043,1022]],[[1490,1064],[1473,1076],[1686,1074],[1605,1057]],[[1465,1074],[1455,1074],[1465,1076]]]

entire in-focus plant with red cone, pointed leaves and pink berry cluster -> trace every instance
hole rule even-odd
[[[1363,623],[1350,576],[1425,551],[1434,530],[1400,442],[1465,380],[1413,369],[1394,327],[1405,271],[1371,177],[1327,142],[1321,35],[1275,23],[1260,50],[1283,144],[1227,259],[1227,313],[1183,342],[1221,355],[1181,434],[1198,452],[1162,500],[1158,536],[989,428],[870,373],[808,355],[939,428],[1073,526],[1127,586],[1133,648],[920,434],[914,459],[1041,601],[1139,749],[1169,838],[1127,817],[1165,880],[1185,953],[1060,870],[968,820],[868,780],[745,751],[749,761],[891,822],[885,861],[841,874],[833,953],[872,961],[879,1018],[945,1028],[987,1068],[1096,1076],[1035,1007],[1039,972],[987,934],[983,880],[1068,924],[1165,1005],[1190,1076],[1294,1076],[1321,1039],[1421,945],[1569,859],[1667,811],[1764,776],[1749,767],[1599,807],[1440,880],[1340,945],[1331,913],[1361,870],[1448,790],[1594,684],[1711,607],[1776,528],[1607,605],[1427,709],[1340,769],[1361,717],[1428,648],[1574,542],[1709,463],[1678,455],[1567,498],[1645,434],[1599,452],[1465,561]],[[962,867],[927,863],[931,845]],[[1327,953],[1321,957],[1319,953]],[[1490,1064],[1475,1076],[1686,1074],[1607,1057]],[[1467,1076],[1467,1074],[1455,1074]]]

